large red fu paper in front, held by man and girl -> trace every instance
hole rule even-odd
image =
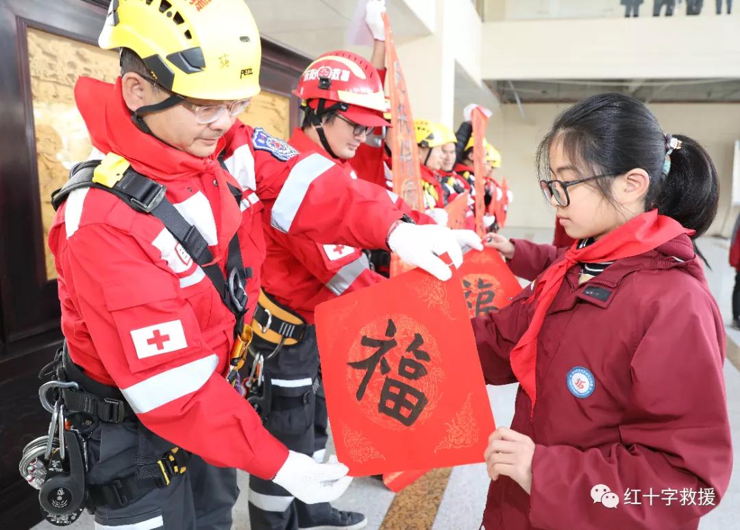
[[[459,276],[410,271],[315,315],[334,446],[351,475],[482,461],[495,426]]]

